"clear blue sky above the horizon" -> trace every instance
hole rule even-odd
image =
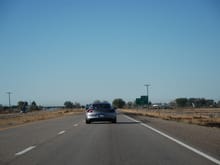
[[[0,104],[220,100],[218,0],[1,0]]]

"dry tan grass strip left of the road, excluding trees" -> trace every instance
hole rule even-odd
[[[22,125],[25,123],[30,123],[39,120],[46,120],[52,118],[58,118],[68,115],[75,115],[82,113],[81,109],[65,109],[56,111],[39,111],[39,112],[29,112],[20,114],[10,114],[0,116],[0,129],[5,129],[8,127],[14,127],[17,125]]]

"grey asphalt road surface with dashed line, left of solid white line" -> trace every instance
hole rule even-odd
[[[1,165],[209,165],[216,164],[143,123],[86,125],[83,115],[0,131]]]

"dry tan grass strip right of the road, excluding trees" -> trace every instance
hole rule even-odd
[[[123,109],[122,112],[131,115],[141,115],[203,126],[220,127],[220,108],[173,110]]]

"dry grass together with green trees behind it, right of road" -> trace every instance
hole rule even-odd
[[[128,115],[141,115],[177,122],[220,128],[220,101],[205,98],[177,98],[170,103],[142,104],[115,99],[113,105]]]

